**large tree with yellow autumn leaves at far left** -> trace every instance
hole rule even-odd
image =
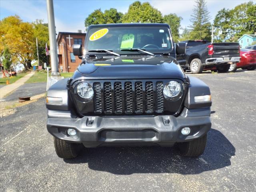
[[[48,43],[48,26],[42,20],[34,23],[23,22],[19,16],[9,16],[0,21],[0,53],[5,48],[10,50],[12,63],[22,63],[26,70],[31,61],[37,60],[36,37],[38,37],[40,55],[45,55],[45,44]],[[43,56],[40,57],[45,62]]]

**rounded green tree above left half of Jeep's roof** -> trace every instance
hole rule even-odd
[[[114,8],[105,10],[104,13],[100,9],[94,10],[84,21],[85,27],[96,24],[120,23],[122,13]]]

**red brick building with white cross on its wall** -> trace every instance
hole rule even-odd
[[[74,72],[81,63],[78,56],[74,56],[72,45],[81,44],[84,49],[84,40],[86,33],[78,30],[77,33],[59,32],[57,37],[58,60],[60,72]]]

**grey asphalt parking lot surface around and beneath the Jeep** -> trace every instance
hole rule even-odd
[[[176,147],[104,147],[60,159],[40,99],[0,120],[0,191],[256,191],[256,70],[193,76],[210,86],[213,102],[199,158]]]

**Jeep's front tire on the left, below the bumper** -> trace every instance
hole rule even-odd
[[[61,140],[58,138],[53,138],[54,148],[56,154],[60,158],[71,159],[78,156],[80,150],[82,149],[82,144],[70,143],[65,140]]]

